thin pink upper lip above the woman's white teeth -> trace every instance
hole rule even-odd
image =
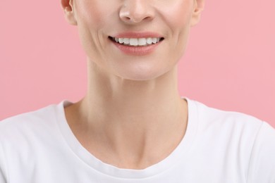
[[[164,38],[161,34],[157,32],[121,32],[114,36],[116,38],[148,38],[148,37],[159,37]]]

